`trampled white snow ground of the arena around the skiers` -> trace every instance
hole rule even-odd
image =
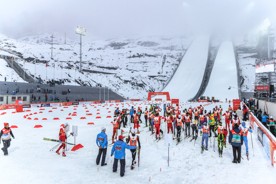
[[[199,137],[195,142],[195,146],[193,146],[194,142],[183,140],[181,144],[170,148],[170,166],[168,167],[168,148],[164,146],[164,140],[160,140],[158,143],[153,142],[154,137],[146,132],[147,127],[139,135],[141,141],[139,168],[136,164],[135,169],[130,170],[131,153],[126,150],[125,176],[119,176],[119,167],[117,173],[113,173],[114,157],[110,157],[112,147],[107,149],[107,166],[97,166],[95,160],[98,147],[95,140],[97,134],[100,133],[100,128],[106,127],[108,139],[111,139],[112,136],[113,128],[110,124],[112,118],[106,118],[106,116],[112,116],[117,106],[120,109],[125,107],[130,109],[131,106],[137,109],[140,106],[144,110],[146,106],[149,108],[149,103],[151,102],[87,104],[86,106],[78,105],[78,107],[57,107],[57,109],[43,107],[24,109],[31,111],[22,113],[12,113],[15,111],[14,109],[3,110],[1,113],[6,112],[6,114],[1,115],[1,123],[9,122],[10,126],[16,125],[18,128],[12,128],[15,139],[12,139],[11,146],[8,148],[9,155],[0,155],[2,171],[8,171],[8,173],[2,172],[1,176],[10,176],[8,178],[9,183],[112,183],[114,179],[121,183],[130,181],[131,183],[150,183],[150,177],[151,183],[233,183],[237,179],[241,183],[273,181],[274,167],[271,165],[271,161],[254,131],[252,139],[255,156],[253,156],[249,134],[249,161],[246,160],[245,147],[243,146],[242,157],[245,160],[241,160],[240,164],[232,163],[232,148],[229,144],[227,144],[227,148],[224,148],[223,158],[218,157],[217,146],[216,151],[212,151],[213,144],[208,146],[208,151],[200,154],[201,137]],[[188,108],[190,105],[194,107],[202,104],[205,105],[207,111],[216,105],[222,105],[224,111],[228,107],[228,103],[190,104],[181,102],[179,104],[182,109]],[[87,116],[87,110],[93,115]],[[108,113],[109,111],[111,112]],[[68,116],[69,113],[73,112],[76,112],[77,116]],[[33,115],[30,115],[30,113]],[[100,114],[97,115],[97,113]],[[31,119],[23,118],[27,114],[30,115],[27,117]],[[101,116],[101,119],[96,119],[97,116]],[[60,120],[53,120],[56,117]],[[67,117],[72,119],[65,120]],[[86,117],[86,119],[80,119],[81,117]],[[34,120],[34,118],[38,118],[38,120]],[[42,120],[43,118],[48,120]],[[141,127],[143,127],[145,125],[144,116],[141,119],[143,120]],[[56,145],[56,142],[43,140],[43,138],[58,139],[60,125],[64,122],[69,123],[70,130],[71,125],[78,125],[76,144],[80,143],[84,146],[84,148],[75,152],[66,151],[66,157],[57,155],[54,151],[49,151]],[[94,125],[87,125],[88,122],[94,122]],[[33,128],[35,125],[42,125],[43,127]],[[164,125],[162,125],[163,130],[165,130]],[[246,126],[249,126],[248,122]],[[123,130],[129,131],[129,126],[123,128]],[[213,143],[213,141],[214,138],[212,137],[211,142]],[[69,137],[68,142],[74,143],[74,138]],[[71,148],[72,146],[68,145],[67,149]]]

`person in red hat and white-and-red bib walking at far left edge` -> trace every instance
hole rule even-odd
[[[8,123],[4,123],[4,128],[0,131],[0,137],[3,142],[3,148],[1,150],[4,152],[5,156],[8,156],[8,148],[11,145],[11,137],[14,138],[13,133],[11,132],[11,128]],[[0,140],[1,144],[1,140]]]

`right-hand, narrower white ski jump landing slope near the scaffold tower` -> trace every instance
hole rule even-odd
[[[215,99],[224,101],[239,99],[238,79],[236,60],[231,41],[225,41],[220,44],[217,57],[214,62],[210,80],[203,96],[215,97]]]

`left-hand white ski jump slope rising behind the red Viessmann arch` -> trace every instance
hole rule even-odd
[[[195,96],[206,67],[209,38],[209,36],[200,36],[193,41],[172,79],[161,92],[169,92],[170,98],[180,101],[187,101]]]

